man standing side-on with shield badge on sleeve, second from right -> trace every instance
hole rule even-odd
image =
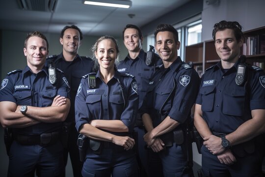
[[[163,61],[150,82],[141,108],[144,141],[159,154],[165,177],[193,177],[191,142],[186,128],[199,87],[196,71],[178,57],[178,32],[160,24],[155,29],[156,50]],[[188,149],[188,150],[187,150]],[[189,152],[189,153],[188,153]]]

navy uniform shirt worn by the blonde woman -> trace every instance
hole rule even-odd
[[[122,91],[119,82],[123,88]],[[97,89],[89,89],[87,76],[82,78],[76,96],[76,128],[94,119],[121,120],[132,132],[138,110],[137,84],[132,75],[115,71],[112,79],[105,84],[96,74]]]

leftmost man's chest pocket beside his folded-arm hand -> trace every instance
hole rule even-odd
[[[51,106],[53,104],[53,98],[57,95],[57,90],[53,89],[53,90],[41,91],[39,95],[40,95],[39,105],[41,107]]]

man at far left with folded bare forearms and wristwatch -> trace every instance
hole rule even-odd
[[[69,84],[60,70],[48,71],[48,41],[27,34],[27,66],[7,74],[0,89],[0,122],[12,128],[8,176],[58,177],[63,174],[62,121],[69,108]],[[50,78],[50,79],[49,79]],[[52,79],[51,79],[52,78]]]

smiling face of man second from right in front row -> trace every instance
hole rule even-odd
[[[160,31],[156,37],[156,50],[163,61],[173,62],[178,57],[180,42],[175,42],[170,31]]]

